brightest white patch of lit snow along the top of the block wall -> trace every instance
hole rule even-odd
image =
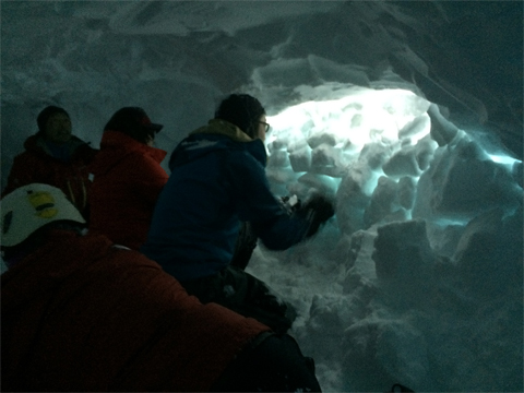
[[[356,148],[372,141],[393,144],[398,141],[398,132],[428,107],[426,99],[408,91],[350,87],[341,98],[302,103],[269,117],[274,129],[270,142],[277,138],[294,142],[326,133],[347,147],[348,142]],[[415,144],[428,133],[429,121],[408,136]]]

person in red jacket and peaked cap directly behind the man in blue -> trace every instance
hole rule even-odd
[[[90,230],[138,250],[146,240],[153,209],[168,175],[160,163],[166,152],[153,147],[163,126],[142,108],[115,112],[90,166],[94,175]]]

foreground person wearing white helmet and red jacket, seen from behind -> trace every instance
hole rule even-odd
[[[202,305],[85,222],[59,189],[1,201],[4,391],[320,391],[288,335]]]

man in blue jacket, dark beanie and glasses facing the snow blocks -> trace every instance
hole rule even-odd
[[[230,265],[241,223],[272,250],[312,236],[333,216],[321,195],[289,214],[265,176],[269,124],[260,102],[247,94],[224,99],[207,126],[175,148],[171,174],[159,194],[141,251],[202,302],[217,302],[286,332],[294,310],[261,281]]]

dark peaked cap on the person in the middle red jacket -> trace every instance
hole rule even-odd
[[[150,135],[160,131],[164,126],[152,123],[144,109],[124,107],[118,109],[107,122],[104,131],[120,131],[134,140],[145,143]]]

